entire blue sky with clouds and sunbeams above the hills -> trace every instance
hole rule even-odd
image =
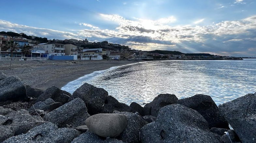
[[[256,57],[256,0],[8,0],[0,31]]]

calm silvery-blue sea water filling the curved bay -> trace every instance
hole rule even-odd
[[[216,104],[256,92],[256,59],[209,61],[153,61],[112,67],[69,82],[73,93],[87,82],[108,91],[118,101],[151,102],[160,93],[179,99],[210,95]]]

